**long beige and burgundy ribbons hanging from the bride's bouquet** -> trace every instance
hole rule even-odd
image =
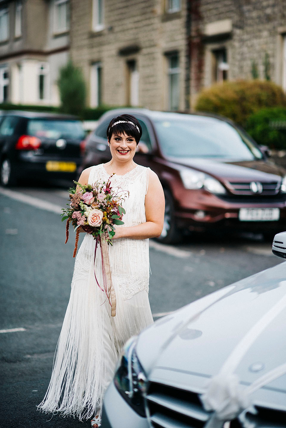
[[[98,246],[98,242],[101,249],[101,269],[102,269],[102,278],[103,278],[103,288],[99,284],[96,274],[95,274],[95,256],[96,256],[96,250]],[[105,237],[102,238],[96,237],[95,240],[95,249],[94,249],[94,260],[93,260],[93,270],[94,270],[94,276],[95,281],[98,285],[98,287],[101,289],[101,291],[104,291],[107,300],[111,306],[111,316],[115,317],[116,315],[116,296],[115,291],[112,283],[112,277],[111,277],[111,269],[110,269],[110,262],[109,262],[109,255],[108,255],[108,248],[107,248],[107,241]]]

